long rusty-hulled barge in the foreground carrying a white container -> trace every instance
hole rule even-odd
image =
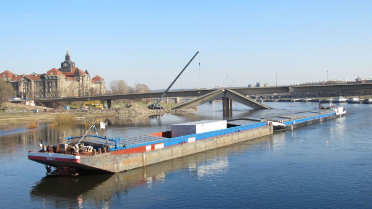
[[[264,119],[203,120],[141,136],[67,137],[58,145],[41,143],[38,152],[28,152],[28,159],[44,164],[48,176],[117,173],[272,133],[273,126]]]

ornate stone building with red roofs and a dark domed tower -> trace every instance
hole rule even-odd
[[[82,97],[106,94],[105,80],[99,75],[90,78],[87,70],[82,71],[71,61],[68,50],[61,68],[52,68],[44,74],[16,75],[8,70],[0,76],[10,83],[13,97],[29,100],[39,98]]]

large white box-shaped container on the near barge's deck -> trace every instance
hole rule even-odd
[[[171,125],[171,133],[173,138],[225,129],[226,127],[226,120],[201,120],[188,123],[173,124]]]

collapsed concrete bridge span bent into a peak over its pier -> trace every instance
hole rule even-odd
[[[218,89],[214,92],[201,96],[195,100],[186,102],[184,104],[180,104],[177,106],[172,107],[171,109],[187,109],[191,108],[200,104],[212,102],[214,100],[222,99],[223,101],[223,110],[232,110],[232,101],[236,101],[238,103],[247,105],[253,109],[271,109],[269,106],[259,103],[255,100],[252,100],[245,95],[242,95],[236,91],[230,89]]]

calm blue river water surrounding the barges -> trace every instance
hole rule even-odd
[[[316,103],[233,103],[233,118],[314,110]],[[0,130],[0,208],[372,208],[372,105],[342,104],[347,116],[117,174],[45,177],[27,159],[39,140],[83,135],[91,121]],[[223,119],[222,104],[195,113],[97,118],[102,136],[166,131],[171,124]],[[92,134],[92,133],[90,133]]]

